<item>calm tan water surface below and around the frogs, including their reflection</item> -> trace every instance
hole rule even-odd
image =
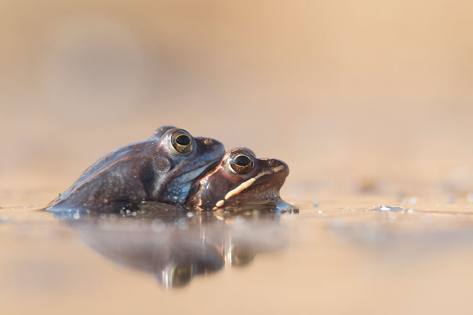
[[[5,205],[2,314],[469,313],[471,201],[351,193],[299,213],[68,215]]]

